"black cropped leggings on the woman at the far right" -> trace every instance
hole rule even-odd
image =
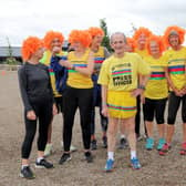
[[[174,92],[170,92],[168,100],[168,118],[167,123],[174,125],[176,121],[177,111],[182,102],[182,120],[186,123],[186,94],[184,96],[177,96]]]

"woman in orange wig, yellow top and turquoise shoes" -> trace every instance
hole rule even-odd
[[[145,148],[153,149],[154,147],[153,121],[155,117],[159,137],[157,149],[159,151],[165,144],[164,113],[168,96],[168,84],[165,79],[165,70],[162,58],[162,52],[164,51],[162,38],[151,35],[147,40],[147,51],[149,56],[144,60],[149,64],[152,72],[142,99],[144,103],[143,111],[148,136]]]

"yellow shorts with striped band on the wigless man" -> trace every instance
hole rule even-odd
[[[111,117],[127,118],[136,114],[136,97],[131,92],[108,91],[107,106]]]

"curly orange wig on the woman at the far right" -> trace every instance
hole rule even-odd
[[[185,30],[177,25],[170,25],[164,32],[164,42],[166,46],[169,46],[169,35],[170,34],[177,34],[179,37],[180,44],[184,42]]]

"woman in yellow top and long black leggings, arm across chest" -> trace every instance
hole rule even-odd
[[[87,163],[93,161],[91,144],[91,111],[93,100],[93,82],[91,75],[94,70],[93,52],[89,49],[92,38],[87,31],[73,30],[69,35],[69,42],[74,51],[68,54],[68,60],[61,60],[60,64],[68,68],[66,89],[63,93],[63,143],[64,153],[59,164],[71,159],[70,145],[72,127],[76,108],[80,110],[81,128],[84,145],[84,156]]]

